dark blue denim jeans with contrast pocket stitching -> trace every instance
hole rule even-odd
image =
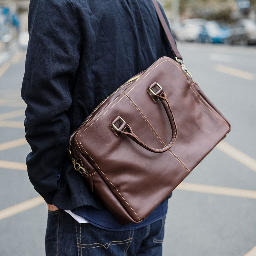
[[[165,217],[134,230],[80,224],[63,210],[48,211],[46,256],[161,256]]]

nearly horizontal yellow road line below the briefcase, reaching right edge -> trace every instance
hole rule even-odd
[[[236,196],[236,197],[256,199],[256,190],[217,187],[217,186],[201,185],[201,184],[186,183],[186,182],[181,182],[176,189],[207,193],[207,194]]]

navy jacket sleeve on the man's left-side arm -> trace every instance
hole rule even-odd
[[[52,204],[58,172],[67,152],[67,111],[79,65],[81,36],[69,1],[31,0],[29,42],[21,95],[27,103],[24,121],[32,152],[28,176],[36,191]]]

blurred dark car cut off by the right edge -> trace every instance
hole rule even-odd
[[[231,29],[227,42],[229,44],[256,44],[256,23],[252,20],[239,20]]]

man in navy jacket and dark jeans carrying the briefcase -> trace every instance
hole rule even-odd
[[[160,57],[173,58],[152,1],[31,0],[28,28],[27,166],[48,205],[46,255],[162,255],[168,200],[122,225],[67,154],[70,135],[102,100]]]

